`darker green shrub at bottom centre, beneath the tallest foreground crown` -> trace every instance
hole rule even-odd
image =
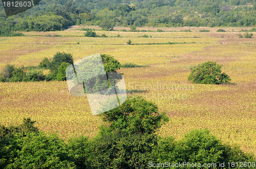
[[[147,168],[148,161],[155,160],[151,152],[156,145],[155,134],[128,134],[104,127],[92,140],[86,163],[94,168]]]

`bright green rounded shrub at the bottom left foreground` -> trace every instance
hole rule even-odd
[[[16,140],[20,150],[8,168],[74,168],[65,142],[56,134],[28,133]]]

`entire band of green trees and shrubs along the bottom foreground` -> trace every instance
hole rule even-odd
[[[180,140],[155,132],[168,121],[152,102],[129,98],[103,114],[108,122],[93,138],[71,138],[68,144],[24,119],[0,128],[1,168],[148,168],[149,162],[255,162],[253,155],[224,145],[206,129],[192,130]],[[231,167],[227,167],[231,168]]]

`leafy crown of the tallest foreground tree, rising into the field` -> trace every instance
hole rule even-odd
[[[159,112],[154,103],[138,97],[127,99],[122,105],[105,112],[103,119],[111,123],[113,130],[140,134],[155,133],[168,121],[165,112]]]

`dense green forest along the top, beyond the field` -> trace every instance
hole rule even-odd
[[[32,9],[6,17],[0,3],[0,35],[13,31],[59,31],[69,25],[253,26],[254,0],[41,0]]]

